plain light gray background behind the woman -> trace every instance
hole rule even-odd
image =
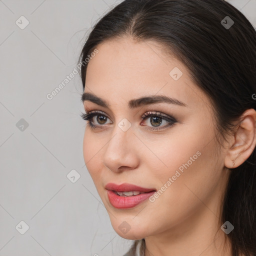
[[[117,256],[131,244],[112,228],[84,164],[79,74],[46,97],[119,2],[0,0],[0,256]],[[229,2],[256,26],[256,0]]]

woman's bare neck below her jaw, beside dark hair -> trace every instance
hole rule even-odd
[[[206,207],[198,214],[195,212],[187,221],[162,233],[145,237],[145,256],[232,256],[219,218]]]

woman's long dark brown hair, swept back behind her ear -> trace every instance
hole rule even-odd
[[[226,16],[234,21],[228,29],[221,24]],[[256,109],[256,31],[228,2],[124,0],[93,26],[78,62],[99,43],[122,36],[154,40],[185,64],[212,102],[219,144],[232,132],[234,120],[246,109]],[[80,70],[83,89],[86,68]],[[256,149],[230,171],[221,221],[234,226],[227,235],[233,256],[256,255]]]

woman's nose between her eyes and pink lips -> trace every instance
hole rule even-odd
[[[117,124],[110,133],[103,155],[103,164],[114,172],[134,169],[139,164],[138,138],[132,126],[123,131]]]

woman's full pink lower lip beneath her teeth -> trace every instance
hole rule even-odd
[[[120,195],[117,195],[112,190],[107,190],[107,196],[112,206],[118,209],[126,209],[126,208],[132,208],[137,204],[139,204],[140,202],[146,200],[154,192],[155,191],[137,194],[137,195],[131,195],[131,196],[120,196]]]

